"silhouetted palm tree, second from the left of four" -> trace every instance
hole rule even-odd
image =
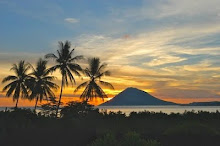
[[[27,82],[31,92],[30,99],[36,98],[34,107],[36,110],[38,100],[41,102],[44,97],[46,99],[48,99],[48,97],[54,97],[55,95],[51,89],[57,89],[58,85],[52,82],[55,77],[49,76],[46,60],[40,58],[37,62],[36,69],[33,67],[32,69],[33,72],[30,74],[32,77]]]

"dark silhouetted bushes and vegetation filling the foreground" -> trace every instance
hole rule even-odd
[[[86,102],[70,102],[56,118],[56,101],[36,113],[0,112],[1,145],[188,146],[220,143],[220,113],[99,112]]]

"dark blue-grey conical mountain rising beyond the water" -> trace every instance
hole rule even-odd
[[[123,105],[176,105],[176,103],[160,100],[145,91],[130,87],[116,95],[113,99],[101,104],[101,106]]]

